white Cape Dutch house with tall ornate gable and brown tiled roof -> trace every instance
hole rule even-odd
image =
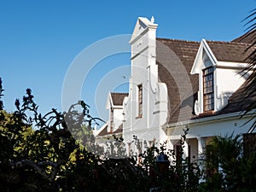
[[[184,154],[197,160],[213,136],[255,132],[250,130],[253,121],[245,124],[255,110],[241,117],[256,101],[255,92],[247,96],[248,74],[240,73],[250,53],[245,52],[248,38],[231,42],[156,38],[157,27],[154,18],[138,18],[130,41],[129,93],[120,94],[118,105],[113,100],[119,94],[109,94],[109,122],[98,137],[119,131],[129,154],[137,147],[134,136],[139,151],[164,142],[167,148],[180,148],[183,129],[189,128]]]

